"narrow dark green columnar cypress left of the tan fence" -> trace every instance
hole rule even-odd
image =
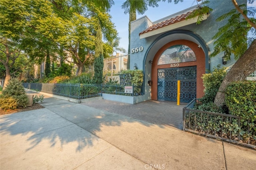
[[[94,81],[96,84],[101,84],[103,81],[103,55],[100,54],[99,57],[95,59],[94,63]]]

